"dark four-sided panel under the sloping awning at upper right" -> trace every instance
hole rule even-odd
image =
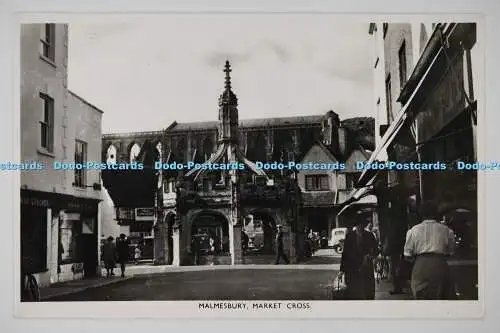
[[[429,91],[429,98],[417,114],[418,142],[434,137],[464,110],[463,80],[463,54],[460,54]]]

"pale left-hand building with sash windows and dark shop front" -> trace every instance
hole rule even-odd
[[[98,273],[102,111],[67,87],[68,27],[21,25],[21,264],[40,285]]]

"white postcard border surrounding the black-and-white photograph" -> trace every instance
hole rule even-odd
[[[82,17],[80,14],[24,14],[22,17],[18,16],[16,18],[22,22],[43,22],[46,20],[57,20],[57,21],[68,21],[68,18],[75,18],[78,16],[78,20],[87,21],[88,18]],[[315,14],[316,15],[316,14]],[[318,15],[327,15],[325,13]],[[478,48],[481,45],[484,54],[484,29],[483,29],[483,19],[478,15],[390,15],[390,19],[387,19],[387,15],[347,15],[347,14],[332,14],[335,15],[335,19],[349,19],[351,20],[362,20],[363,22],[369,23],[371,21],[389,21],[389,22],[407,22],[409,17],[412,21],[476,21],[478,22]],[[115,15],[113,15],[115,16]],[[126,16],[130,15],[120,15],[120,19],[126,19]],[[136,15],[132,15],[136,16]],[[116,16],[118,18],[118,16]],[[146,16],[143,16],[144,19]],[[474,19],[471,19],[474,17]],[[94,16],[92,21],[106,19],[109,20],[110,16]],[[446,18],[446,19],[445,19]],[[15,66],[14,73],[19,73],[19,29],[16,28],[16,36],[14,40],[14,50],[15,51]],[[480,84],[484,84],[484,64],[477,64],[478,66],[478,77]],[[19,77],[14,75],[14,101],[19,100]],[[481,97],[483,98],[481,98]],[[478,160],[486,160],[486,128],[484,126],[486,122],[486,112],[485,112],[485,94],[484,87],[478,92]],[[19,149],[19,135],[20,135],[20,113],[19,105],[15,103],[14,112],[14,156],[19,160],[20,149]],[[17,150],[16,150],[17,149]],[[14,187],[13,187],[13,221],[14,221],[14,290],[19,290],[18,286],[18,272],[19,272],[19,234],[16,232],[20,228],[19,221],[19,188],[20,179],[17,174],[13,174]],[[485,200],[485,175],[483,173],[478,174],[478,237],[479,237],[479,301],[468,302],[468,301],[447,301],[447,302],[437,302],[437,301],[370,301],[370,302],[328,302],[328,301],[310,301],[312,306],[312,311],[269,311],[269,310],[252,310],[245,311],[244,313],[239,313],[236,311],[219,311],[214,312],[213,310],[202,310],[198,309],[198,304],[200,302],[185,302],[185,301],[173,301],[173,302],[70,302],[70,303],[18,303],[19,298],[16,295],[15,301],[15,313],[17,317],[30,317],[30,318],[287,318],[287,319],[298,319],[298,318],[480,318],[484,314],[484,266],[485,266],[485,222],[486,222],[486,200]],[[17,294],[17,293],[16,293]],[[306,301],[308,302],[308,301]],[[231,303],[236,303],[236,301],[231,301]],[[248,304],[252,303],[263,303],[263,302],[246,302]],[[281,303],[292,303],[288,301],[283,301]]]

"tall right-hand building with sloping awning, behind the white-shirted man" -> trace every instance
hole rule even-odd
[[[459,240],[457,255],[477,259],[477,172],[458,167],[459,161],[476,162],[481,63],[476,24],[372,23],[369,33],[380,133],[369,161],[428,163],[437,170],[363,172],[357,197],[377,195],[382,229],[400,239],[396,242],[404,242],[406,230],[419,222],[420,202],[434,201]],[[385,115],[380,111],[384,96]],[[461,281],[470,274],[456,277],[477,298],[477,288],[470,287],[477,285],[477,266],[471,267],[476,270],[472,282]]]

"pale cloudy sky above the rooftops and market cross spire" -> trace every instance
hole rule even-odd
[[[104,133],[217,120],[224,63],[240,119],[373,116],[368,22],[331,15],[165,15],[72,22],[68,86]]]

